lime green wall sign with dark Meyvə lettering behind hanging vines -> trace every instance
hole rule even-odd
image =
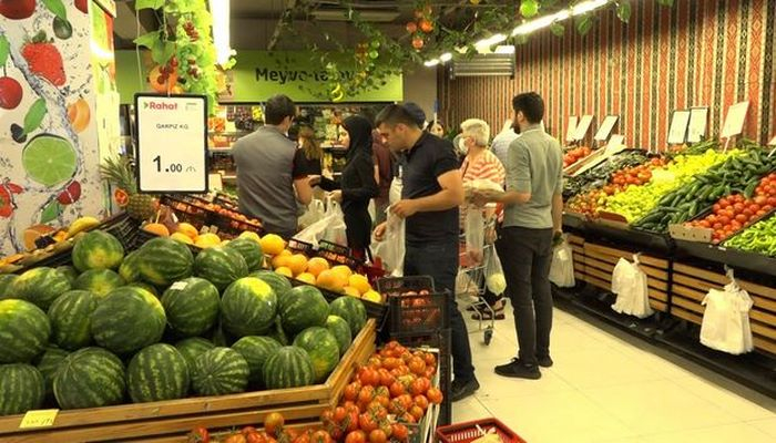
[[[309,89],[319,87],[321,93],[329,87],[328,74],[316,70],[307,52],[237,51],[237,64],[227,72],[228,91],[222,96],[222,103],[263,102],[274,94],[286,94],[296,102],[328,103],[313,94]],[[278,63],[282,59],[285,63]],[[142,74],[137,70],[135,51],[116,51],[116,83],[122,103],[132,103],[135,92],[147,91]],[[150,59],[141,56],[143,73],[149,71]],[[356,75],[355,70],[343,70],[344,78]],[[304,89],[300,86],[305,86]],[[378,89],[357,94],[345,95],[343,102],[394,102],[402,100],[402,79],[395,75]]]

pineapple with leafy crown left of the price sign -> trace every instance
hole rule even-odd
[[[156,214],[157,200],[152,195],[137,194],[134,167],[134,162],[129,157],[105,158],[100,165],[100,175],[104,181],[126,193],[129,196],[126,214],[130,217],[147,220]]]

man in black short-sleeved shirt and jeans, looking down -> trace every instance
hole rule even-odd
[[[391,213],[406,219],[405,275],[433,278],[437,290],[449,291],[455,380],[450,399],[458,401],[479,389],[471,363],[469,334],[456,305],[458,272],[458,207],[463,204],[463,184],[450,142],[425,133],[401,105],[389,105],[377,116],[376,126],[392,152],[405,152],[401,200]],[[375,230],[385,235],[385,224]]]

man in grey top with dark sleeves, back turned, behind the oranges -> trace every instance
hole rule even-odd
[[[267,233],[288,239],[297,229],[297,200],[308,205],[313,188],[303,167],[303,151],[286,136],[296,105],[285,95],[274,95],[264,114],[265,125],[232,148],[239,210],[261,219]]]

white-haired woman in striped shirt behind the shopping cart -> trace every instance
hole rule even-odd
[[[463,177],[463,187],[472,186],[474,181],[490,181],[499,187],[503,188],[507,173],[501,161],[489,150],[488,142],[490,141],[490,126],[482,120],[469,119],[461,123],[461,135],[460,135],[460,146],[457,146],[462,152],[466,153],[463,158],[463,164],[461,165],[461,176]],[[501,207],[496,205],[486,206],[486,208],[477,208],[471,202],[467,202],[461,207],[461,226],[464,227],[468,210],[481,210],[482,216],[486,217],[486,225],[490,225],[498,214],[501,212]],[[480,253],[479,257],[472,257],[476,261],[481,261],[482,256]],[[490,293],[486,291],[486,301],[496,312],[496,319],[501,320],[504,318],[503,308],[504,303],[500,296]],[[480,316],[490,317],[489,311],[476,312],[474,318],[479,319]]]

